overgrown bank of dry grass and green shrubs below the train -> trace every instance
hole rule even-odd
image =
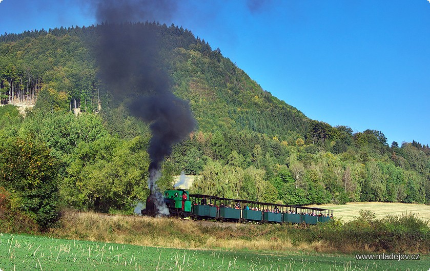
[[[363,213],[349,223],[316,226],[235,224],[95,213],[65,213],[56,238],[175,248],[260,252],[430,252],[428,221],[412,214],[383,220]]]

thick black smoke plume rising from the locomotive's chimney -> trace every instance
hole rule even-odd
[[[148,185],[156,190],[160,163],[172,152],[172,145],[195,127],[188,102],[171,92],[171,79],[163,69],[161,43],[155,25],[141,20],[166,19],[175,10],[167,0],[94,1],[96,16],[103,23],[96,45],[99,76],[116,102],[125,102],[134,116],[150,123],[148,149],[151,163]],[[158,195],[159,196],[159,195]],[[162,196],[157,201],[162,204]],[[157,205],[157,204],[156,204]],[[158,212],[163,206],[157,206]]]

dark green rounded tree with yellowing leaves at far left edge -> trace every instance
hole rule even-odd
[[[17,139],[0,148],[0,185],[13,193],[16,210],[46,230],[58,218],[57,161],[42,143]]]

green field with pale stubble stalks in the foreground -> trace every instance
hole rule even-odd
[[[0,269],[9,270],[424,270],[420,260],[356,260],[354,255],[187,250],[0,234]]]

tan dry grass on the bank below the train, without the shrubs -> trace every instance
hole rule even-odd
[[[110,216],[97,213],[66,212],[62,227],[53,229],[57,238],[79,239],[110,243],[175,248],[223,248],[251,251],[295,250],[288,237],[270,234],[257,225],[214,223],[133,216]],[[312,244],[303,243],[303,249]]]

